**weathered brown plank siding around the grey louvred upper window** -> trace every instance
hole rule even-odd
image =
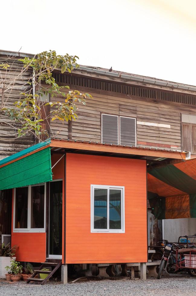
[[[85,106],[78,104],[79,118],[72,121],[72,140],[101,142],[101,113],[106,113],[134,117],[140,122],[170,125],[170,128],[167,128],[137,124],[137,145],[181,149],[181,114],[196,114],[194,105],[119,94],[78,85],[70,85],[70,88],[89,92],[93,96],[93,99],[86,99]],[[57,138],[68,138],[67,124],[62,125],[54,121],[51,125],[53,128],[63,130]]]

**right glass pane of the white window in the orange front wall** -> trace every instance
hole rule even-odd
[[[121,190],[110,189],[110,229],[121,229]]]

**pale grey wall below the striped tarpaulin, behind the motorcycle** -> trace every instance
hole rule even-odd
[[[196,218],[166,219],[164,222],[164,239],[177,242],[182,235],[196,233]]]

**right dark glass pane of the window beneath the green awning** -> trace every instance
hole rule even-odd
[[[44,187],[31,187],[31,228],[44,228]]]

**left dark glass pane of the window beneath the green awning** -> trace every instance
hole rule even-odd
[[[15,228],[27,228],[28,187],[16,188]]]

